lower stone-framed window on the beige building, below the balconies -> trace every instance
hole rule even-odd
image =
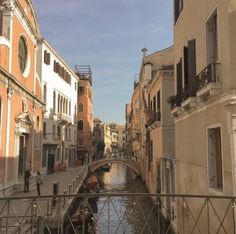
[[[208,128],[208,180],[209,186],[223,188],[221,128]]]

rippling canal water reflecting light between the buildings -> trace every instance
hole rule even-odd
[[[97,171],[101,193],[146,193],[139,177],[128,167],[113,163],[109,172]],[[102,234],[157,233],[157,215],[150,198],[99,197],[96,202],[98,228]],[[147,222],[145,221],[147,220]]]

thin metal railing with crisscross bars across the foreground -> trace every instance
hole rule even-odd
[[[236,233],[235,204],[230,196],[147,193],[0,198],[0,233],[131,233],[137,215],[140,234]]]

